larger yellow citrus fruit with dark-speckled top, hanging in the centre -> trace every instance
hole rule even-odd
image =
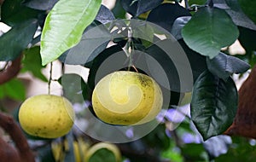
[[[138,72],[113,72],[96,84],[92,106],[108,124],[144,124],[160,112],[163,96],[153,78]]]

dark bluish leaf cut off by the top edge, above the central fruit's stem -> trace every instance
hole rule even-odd
[[[135,17],[154,9],[162,2],[163,0],[121,0],[123,8]]]

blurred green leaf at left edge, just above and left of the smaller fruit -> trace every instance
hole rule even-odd
[[[18,79],[11,79],[9,82],[0,85],[0,98],[10,97],[17,101],[26,98],[26,89]]]

